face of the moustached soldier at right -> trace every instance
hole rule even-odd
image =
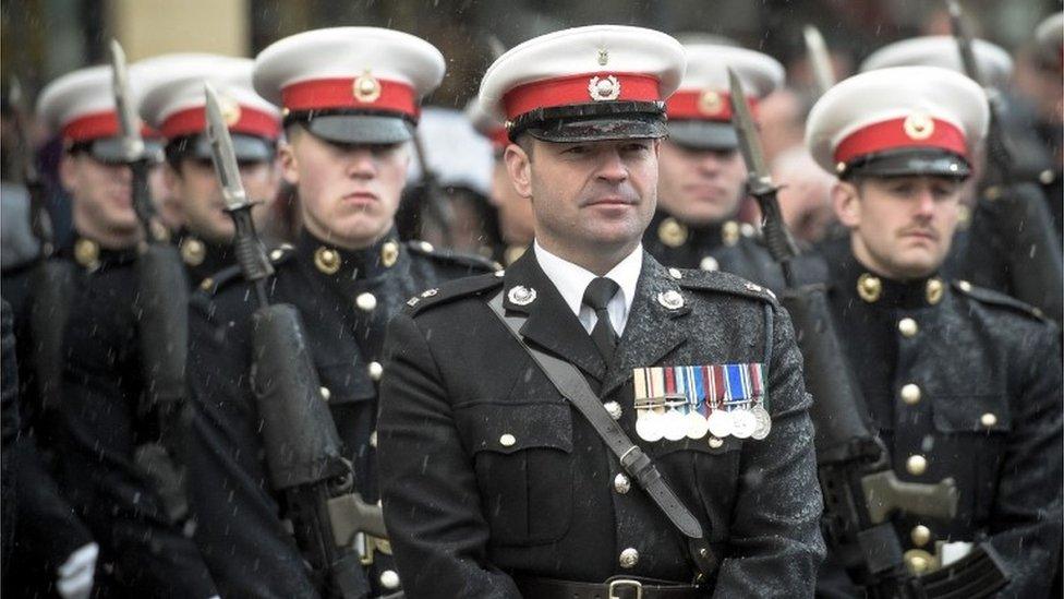
[[[950,251],[962,182],[945,177],[836,183],[832,200],[864,266],[900,280],[933,274]]]

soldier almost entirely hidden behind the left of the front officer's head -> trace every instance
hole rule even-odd
[[[503,122],[484,110],[475,98],[466,108],[466,115],[476,131],[492,142],[491,201],[498,209],[499,233],[506,245],[498,257],[509,266],[532,244],[532,203],[518,195],[506,173],[503,154],[510,141]]]

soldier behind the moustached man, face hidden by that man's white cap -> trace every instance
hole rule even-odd
[[[1059,288],[1062,259],[1050,211],[1059,199],[1045,197],[1039,181],[1042,172],[1053,175],[1052,161],[1030,125],[1021,122],[1006,104],[1005,92],[1013,73],[1008,52],[974,39],[971,56],[980,77],[978,83],[987,87],[998,105],[992,116],[992,123],[995,119],[998,127],[996,130],[991,127],[986,152],[974,156],[977,176],[969,184],[976,194],[975,205],[970,218],[964,218],[967,230],[956,241],[943,274],[1008,293],[1060,323],[1064,319],[1064,300]],[[891,44],[869,56],[861,63],[861,71],[920,65],[969,74],[957,40],[951,36],[917,37]],[[995,147],[995,141],[1007,145]],[[1041,268],[1054,269],[1056,274],[1048,277]]]

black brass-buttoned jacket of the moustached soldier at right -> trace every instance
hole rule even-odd
[[[989,539],[1012,576],[1002,596],[1047,597],[1062,524],[1060,330],[967,281],[876,277],[862,298],[871,274],[842,247],[829,299],[873,428],[900,480],[952,477],[959,491],[953,519],[896,518],[903,550],[926,559],[939,541]]]

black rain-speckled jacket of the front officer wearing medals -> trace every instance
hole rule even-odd
[[[519,285],[536,299],[504,306],[528,315],[527,342],[617,402],[633,440],[632,369],[771,355],[767,439],[637,442],[722,558],[717,592],[809,595],[823,552],[810,398],[789,319],[771,293],[724,273],[666,271],[644,254],[607,363],[529,252],[505,277],[411,300],[391,323],[378,439],[385,519],[408,597],[518,597],[515,575],[690,583],[696,574],[684,538],[634,483],[617,486],[615,456],[486,304]],[[658,301],[668,290],[681,307]],[[626,568],[618,556],[628,548],[638,559]]]

